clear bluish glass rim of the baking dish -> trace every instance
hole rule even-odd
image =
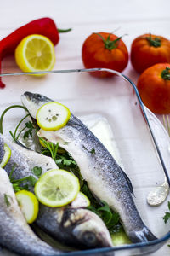
[[[150,126],[150,121],[147,117],[147,113],[146,113],[146,107],[144,106],[144,103],[142,102],[140,96],[139,96],[139,90],[137,89],[137,86],[133,83],[133,81],[131,79],[129,79],[126,75],[124,75],[123,73],[119,73],[116,70],[111,70],[108,68],[77,68],[77,69],[61,69],[61,70],[52,70],[52,71],[37,71],[37,72],[20,72],[20,73],[0,73],[0,77],[7,77],[7,76],[22,76],[22,75],[31,75],[31,74],[54,74],[54,73],[91,73],[91,72],[101,72],[101,71],[105,71],[105,72],[109,72],[109,73],[113,73],[116,74],[120,77],[122,77],[122,79],[126,80],[128,83],[130,83],[133,87],[133,90],[138,98],[139,101],[139,106],[141,108],[141,111],[144,115],[144,119],[146,121],[146,124],[149,127],[149,131],[150,131],[150,135],[152,138],[152,141],[156,147],[156,152],[158,154],[158,158],[161,161],[161,166],[163,169],[163,172],[167,178],[167,183],[170,187],[170,177],[168,175],[167,172],[167,168],[165,166],[163,157],[161,155],[161,151],[158,147],[158,144],[156,142],[156,137],[154,135],[154,132],[152,131],[152,128]],[[154,113],[153,113],[154,114]],[[61,256],[66,256],[66,255],[79,255],[80,253],[83,255],[88,254],[88,253],[111,253],[111,252],[115,252],[115,251],[121,251],[121,250],[130,250],[130,249],[135,249],[135,248],[140,248],[140,247],[150,247],[152,245],[157,245],[157,244],[161,244],[161,242],[165,243],[168,239],[170,239],[170,231],[167,232],[166,235],[161,236],[161,238],[157,238],[154,241],[145,241],[145,242],[139,242],[139,243],[133,243],[133,244],[129,244],[129,245],[122,245],[122,246],[116,246],[116,247],[105,247],[105,248],[95,248],[95,249],[87,249],[87,250],[82,250],[82,251],[76,251],[76,252],[67,252],[67,253],[61,253]]]

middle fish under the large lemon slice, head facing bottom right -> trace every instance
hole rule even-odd
[[[14,168],[12,176],[14,179],[34,176],[31,170],[35,166],[41,167],[42,173],[48,172],[50,169],[58,169],[51,157],[38,154],[12,143],[2,134],[0,134],[0,162],[3,159],[4,143],[8,144],[11,149],[11,157],[4,169],[10,175]],[[36,176],[34,177],[36,178]],[[33,191],[31,184],[30,189]],[[6,221],[5,217],[2,218],[2,223],[4,221]],[[40,204],[36,224],[57,241],[61,241],[71,247],[112,246],[111,236],[104,222],[94,212],[81,208],[81,200],[80,208],[71,206],[51,208]],[[0,241],[1,239],[0,237]]]

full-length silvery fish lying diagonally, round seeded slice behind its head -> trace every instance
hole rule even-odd
[[[30,92],[22,95],[21,101],[34,119],[38,108],[47,102],[53,102],[45,96]],[[88,182],[89,189],[120,214],[124,230],[131,241],[156,240],[156,236],[139,216],[132,197],[132,184],[127,175],[104,145],[77,117],[71,114],[67,125],[59,131],[40,129],[38,135],[49,142],[59,142],[59,146],[71,154],[80,168],[82,177]]]

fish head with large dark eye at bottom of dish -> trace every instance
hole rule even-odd
[[[83,208],[65,208],[63,227],[79,247],[112,247],[111,235],[98,215]]]

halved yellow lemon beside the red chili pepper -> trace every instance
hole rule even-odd
[[[33,34],[21,40],[15,49],[15,61],[24,72],[52,70],[54,44],[42,35]]]

